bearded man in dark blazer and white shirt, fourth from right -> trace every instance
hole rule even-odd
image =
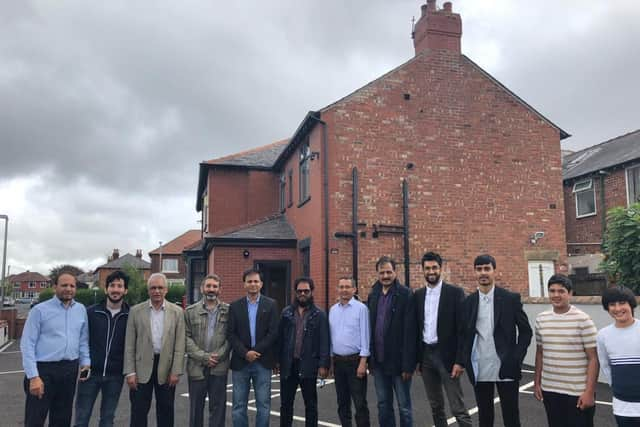
[[[442,258],[435,252],[422,257],[426,286],[414,293],[416,307],[417,362],[431,405],[433,423],[446,427],[444,388],[458,425],[471,427],[460,386],[464,373],[464,291],[442,281]]]

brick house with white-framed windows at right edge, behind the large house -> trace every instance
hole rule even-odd
[[[593,273],[607,210],[640,201],[640,130],[565,156],[563,184],[570,272]]]

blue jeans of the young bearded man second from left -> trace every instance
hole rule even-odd
[[[78,383],[76,398],[76,427],[86,427],[91,420],[93,404],[102,392],[102,404],[100,405],[100,427],[113,427],[113,417],[120,400],[122,391],[122,375],[94,375],[88,380]]]

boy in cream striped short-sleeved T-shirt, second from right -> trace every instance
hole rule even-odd
[[[547,286],[552,309],[536,317],[534,394],[544,403],[550,427],[592,427],[598,330],[569,303],[573,286],[568,277],[551,276]]]

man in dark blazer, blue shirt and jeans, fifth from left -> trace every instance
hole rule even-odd
[[[247,292],[229,306],[227,337],[233,355],[232,419],[234,427],[247,427],[249,385],[256,398],[256,427],[268,427],[271,409],[271,370],[275,366],[275,343],[278,337],[278,310],[271,298],[260,295],[262,274],[249,269],[242,274]]]

